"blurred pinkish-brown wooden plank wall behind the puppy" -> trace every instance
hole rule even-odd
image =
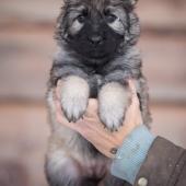
[[[45,92],[60,4],[0,0],[0,186],[46,186]],[[141,0],[137,12],[152,131],[186,148],[186,1]]]

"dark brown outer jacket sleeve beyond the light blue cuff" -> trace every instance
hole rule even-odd
[[[183,148],[158,137],[152,143],[146,161],[136,177],[135,186],[141,177],[148,185],[186,185],[186,152]]]

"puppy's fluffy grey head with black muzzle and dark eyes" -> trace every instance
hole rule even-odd
[[[136,1],[65,0],[56,38],[86,58],[116,56],[139,37]]]

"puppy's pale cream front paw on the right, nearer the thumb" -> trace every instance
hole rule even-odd
[[[129,91],[117,82],[104,85],[98,94],[100,118],[109,130],[117,130],[124,123],[130,103]]]

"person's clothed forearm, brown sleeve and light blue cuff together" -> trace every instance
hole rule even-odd
[[[183,186],[186,185],[186,153],[139,127],[124,141],[113,162],[112,173],[135,186]]]

